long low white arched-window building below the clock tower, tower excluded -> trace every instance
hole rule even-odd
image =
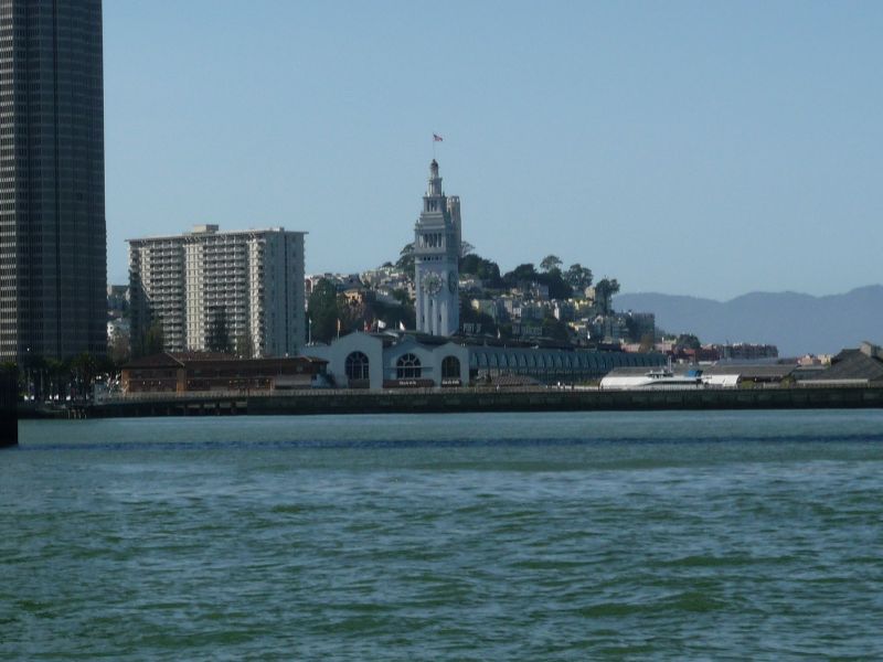
[[[470,344],[412,332],[350,333],[306,354],[328,361],[334,386],[402,388],[510,383],[513,377],[541,384],[578,384],[619,366],[650,370],[666,364],[662,354],[595,350]]]

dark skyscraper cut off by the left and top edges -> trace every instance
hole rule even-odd
[[[106,351],[100,0],[0,0],[0,361]]]

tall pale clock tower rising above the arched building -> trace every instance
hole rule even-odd
[[[459,329],[459,257],[460,201],[445,195],[433,159],[423,211],[414,226],[417,331],[451,335]]]

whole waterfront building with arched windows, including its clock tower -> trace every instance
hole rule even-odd
[[[417,330],[355,332],[330,345],[306,348],[306,355],[328,362],[332,386],[426,388],[488,381],[576,384],[600,378],[616,367],[666,364],[662,354],[541,348],[460,335],[460,200],[445,195],[438,162],[433,159],[423,209],[414,226]]]

